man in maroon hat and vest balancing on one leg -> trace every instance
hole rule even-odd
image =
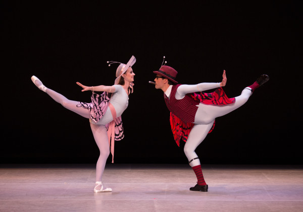
[[[212,131],[215,118],[242,106],[252,92],[266,83],[269,77],[261,75],[255,83],[244,88],[241,95],[228,98],[221,88],[226,85],[227,81],[225,70],[221,83],[199,83],[196,85],[177,84],[178,72],[167,65],[162,65],[154,73],[156,74],[155,88],[164,92],[165,103],[171,112],[170,122],[174,138],[178,146],[181,138],[186,142],[184,153],[197,178],[197,184],[189,190],[208,191],[199,158],[194,152],[195,149]],[[215,88],[217,89],[213,93],[202,92]]]

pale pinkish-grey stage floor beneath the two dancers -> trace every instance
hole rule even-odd
[[[92,164],[1,165],[0,211],[303,211],[303,167],[203,165],[209,192],[186,164],[107,164],[113,192],[93,193]]]

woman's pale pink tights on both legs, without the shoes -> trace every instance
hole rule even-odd
[[[46,93],[52,97],[56,102],[60,103],[63,107],[85,117],[89,118],[89,111],[86,108],[83,107],[77,107],[79,105],[78,102],[72,101],[64,97],[63,95],[47,88]],[[96,181],[102,181],[103,172],[105,169],[106,160],[110,155],[110,146],[109,146],[109,139],[107,134],[107,129],[105,125],[101,124],[92,124],[90,123],[91,131],[93,134],[93,137],[95,139],[95,142],[99,148],[100,156],[98,158],[97,164],[96,164]],[[103,185],[103,189],[106,189],[106,187]],[[100,189],[100,188],[96,188]]]

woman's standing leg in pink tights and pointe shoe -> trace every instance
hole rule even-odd
[[[106,188],[102,184],[102,176],[106,165],[106,160],[110,155],[110,145],[105,125],[90,123],[91,131],[95,142],[99,148],[100,156],[96,164],[96,186],[94,192],[112,191],[111,188]]]

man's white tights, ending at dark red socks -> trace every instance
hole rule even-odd
[[[199,104],[195,114],[194,125],[188,135],[184,146],[184,153],[188,161],[197,158],[195,149],[203,142],[208,132],[213,126],[215,118],[226,115],[231,111],[242,106],[251,95],[250,88],[244,89],[240,96],[235,97],[235,103],[229,105],[206,105]],[[195,159],[190,163],[190,166],[200,165],[199,159]]]

